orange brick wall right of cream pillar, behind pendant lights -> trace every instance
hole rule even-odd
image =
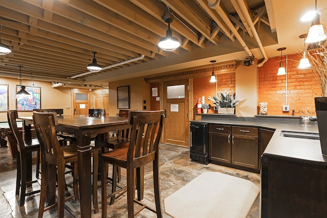
[[[315,111],[314,97],[321,95],[319,85],[314,82],[314,74],[310,69],[298,69],[301,55],[288,55],[288,100],[289,112],[283,112],[285,105],[286,75],[277,76],[281,57],[269,58],[269,60],[259,68],[258,85],[258,108],[260,102],[268,102],[268,115],[300,115],[298,112],[304,107],[309,107],[310,111]],[[286,56],[283,56],[283,63],[286,67]],[[259,110],[258,110],[259,112]]]

